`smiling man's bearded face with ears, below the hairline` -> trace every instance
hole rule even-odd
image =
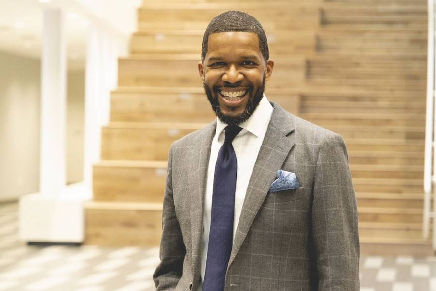
[[[253,32],[221,32],[209,36],[198,70],[218,118],[240,124],[253,114],[263,97],[274,62],[265,61]]]

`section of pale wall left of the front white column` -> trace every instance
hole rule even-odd
[[[0,52],[0,200],[39,187],[40,62]]]

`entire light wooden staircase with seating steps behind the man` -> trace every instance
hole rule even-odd
[[[432,254],[422,239],[425,0],[147,0],[119,60],[86,241],[156,246],[171,143],[214,118],[197,73],[209,21],[242,10],[263,24],[268,99],[343,135],[362,254]]]

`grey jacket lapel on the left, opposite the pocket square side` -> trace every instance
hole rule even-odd
[[[217,122],[216,120],[210,123],[206,128],[202,129],[203,134],[199,136],[198,142],[192,147],[190,155],[193,158],[192,180],[187,183],[196,183],[197,189],[190,195],[190,216],[191,216],[191,251],[192,251],[192,272],[199,274],[201,263],[201,245],[203,234],[203,205],[204,194],[206,192],[206,177],[209,164],[210,148],[212,138],[215,135]]]

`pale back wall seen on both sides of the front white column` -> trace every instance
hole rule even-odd
[[[0,51],[0,201],[39,191],[40,61]],[[84,72],[68,74],[67,181],[83,177]]]

